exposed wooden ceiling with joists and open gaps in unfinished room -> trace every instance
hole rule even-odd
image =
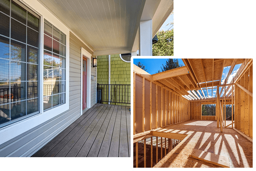
[[[231,75],[236,64],[241,64],[235,78],[249,62],[249,59],[182,59],[185,66],[153,74],[154,81],[183,95],[188,100],[208,100],[215,98],[213,91],[221,83],[223,68],[230,66],[226,79]],[[225,84],[227,83],[224,82]],[[231,80],[233,83],[233,80]],[[224,87],[224,86],[223,86]],[[229,87],[227,88],[229,90]],[[221,90],[222,92],[222,90]],[[231,98],[231,91],[226,98]],[[223,97],[222,97],[223,98]]]

